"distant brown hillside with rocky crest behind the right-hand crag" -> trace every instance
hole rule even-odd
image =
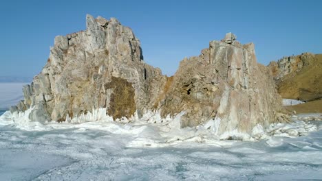
[[[322,98],[322,55],[302,53],[270,62],[277,89],[283,98],[314,101]],[[322,106],[322,105],[321,105]]]

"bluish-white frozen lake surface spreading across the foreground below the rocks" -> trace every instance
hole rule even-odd
[[[8,117],[0,117],[0,180],[322,180],[321,121],[303,136],[219,141],[202,129]]]

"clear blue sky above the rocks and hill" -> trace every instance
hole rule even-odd
[[[184,57],[233,32],[268,64],[322,53],[322,1],[1,1],[0,76],[34,76],[56,35],[85,29],[86,14],[116,17],[141,40],[145,62],[172,75]]]

